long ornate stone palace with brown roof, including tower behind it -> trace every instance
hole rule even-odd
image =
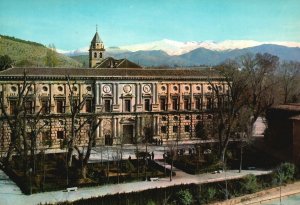
[[[84,101],[74,126],[82,125],[91,116],[100,122],[95,132],[97,145],[201,137],[197,136],[196,125],[209,126],[213,108],[226,103],[228,88],[224,79],[212,70],[141,68],[126,59],[121,60],[123,64],[119,60],[125,68],[101,67],[99,65],[106,61],[104,51],[96,33],[90,47],[90,66],[95,68],[10,68],[0,72],[5,112],[9,116],[15,113],[24,73],[28,92],[23,93],[23,98],[26,98],[24,106],[28,117],[41,112],[38,141],[41,145],[51,141],[49,146],[53,148],[60,147],[70,134],[72,102]],[[224,94],[222,102],[214,100],[211,84],[217,85]],[[0,132],[4,136],[2,145],[5,145],[12,130],[4,112],[1,117]],[[77,144],[87,142],[89,130],[90,124],[84,124]]]

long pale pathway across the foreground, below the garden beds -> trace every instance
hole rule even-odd
[[[226,172],[225,176],[225,173],[190,175],[180,170],[176,170],[176,176],[173,177],[172,181],[166,177],[153,182],[139,181],[123,184],[111,184],[98,187],[79,188],[76,192],[53,191],[28,196],[22,194],[21,190],[5,175],[2,170],[0,170],[0,204],[22,205],[26,203],[27,205],[34,205],[39,203],[44,204],[62,201],[75,201],[82,198],[88,199],[91,197],[105,196],[107,194],[129,193],[180,184],[208,183],[222,181],[225,177],[227,179],[235,179],[247,174],[261,175],[267,174],[268,172],[269,171],[243,170],[242,173],[239,173],[238,170],[229,170]]]

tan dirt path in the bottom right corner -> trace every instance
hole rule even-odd
[[[237,197],[234,199],[230,199],[224,202],[217,202],[211,205],[256,205],[266,203],[271,200],[275,200],[280,198],[280,196],[287,197],[294,194],[300,193],[300,182],[295,182],[293,184],[288,184],[281,187],[275,187],[272,189],[263,190],[254,194],[245,195],[242,197]],[[299,202],[300,204],[300,202]]]

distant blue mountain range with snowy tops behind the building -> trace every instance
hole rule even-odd
[[[144,44],[106,49],[106,56],[127,58],[142,66],[199,66],[217,65],[226,59],[235,59],[247,53],[270,53],[281,60],[300,61],[298,42],[258,41],[202,41],[178,42],[168,39]],[[65,52],[66,55],[88,65],[88,48]]]

